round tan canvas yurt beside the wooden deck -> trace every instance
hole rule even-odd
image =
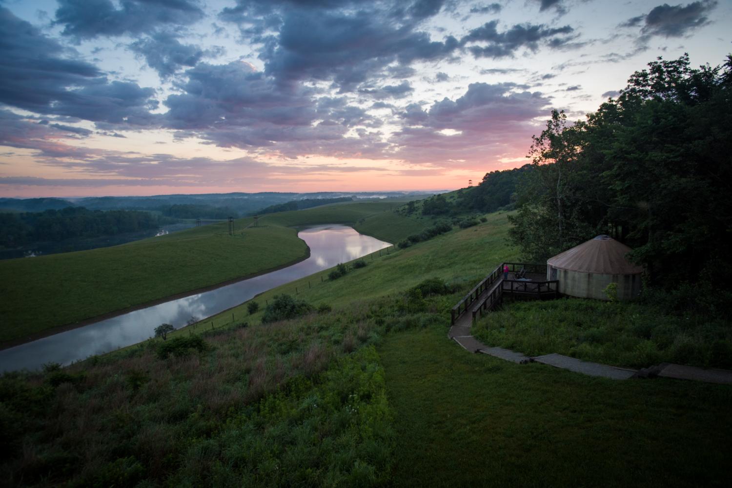
[[[643,268],[627,258],[630,247],[610,236],[572,247],[547,260],[547,279],[559,279],[559,293],[585,299],[608,300],[605,288],[617,283],[619,300],[641,293]]]

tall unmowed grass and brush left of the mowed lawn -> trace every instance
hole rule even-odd
[[[4,479],[373,486],[389,475],[393,438],[374,345],[433,323],[395,296],[4,375]]]

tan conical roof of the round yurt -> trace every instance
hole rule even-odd
[[[612,237],[602,235],[549,258],[547,264],[558,269],[581,273],[641,273],[643,267],[631,263],[626,257],[631,250]]]

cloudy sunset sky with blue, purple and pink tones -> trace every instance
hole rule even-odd
[[[0,0],[0,196],[455,189],[732,1]]]

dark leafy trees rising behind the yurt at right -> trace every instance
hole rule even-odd
[[[633,248],[651,285],[731,275],[732,56],[717,67],[692,68],[687,55],[648,66],[586,120],[553,110],[533,137],[510,217],[523,258],[610,234]]]

